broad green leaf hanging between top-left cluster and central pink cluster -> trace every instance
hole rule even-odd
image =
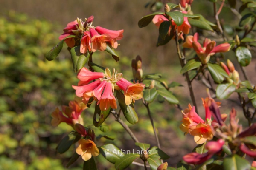
[[[87,62],[88,57],[87,57],[87,54],[83,54],[80,52],[80,45],[71,48],[70,54],[71,54],[71,59],[73,62],[74,72],[76,73],[77,71],[79,71],[81,68],[84,67],[84,65]]]

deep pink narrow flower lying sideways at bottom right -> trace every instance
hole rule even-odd
[[[223,139],[218,139],[218,141],[211,141],[205,145],[205,148],[208,150],[207,153],[189,153],[183,156],[183,160],[189,164],[201,164],[210,159],[215,153],[221,151],[222,146],[224,145]]]

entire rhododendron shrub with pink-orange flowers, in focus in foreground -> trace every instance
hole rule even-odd
[[[247,22],[247,25],[241,28],[239,34],[233,35],[235,37],[233,38],[225,34],[223,24],[220,23],[224,21],[219,20],[219,14],[224,5],[236,11],[235,0],[229,0],[227,4],[224,0],[210,1],[215,12],[213,22],[208,21],[201,14],[193,13],[193,0],[180,0],[179,4],[163,4],[157,0],[157,3],[162,3],[164,8],[159,8],[160,11],[142,17],[138,21],[140,28],[147,26],[151,21],[157,26],[156,31],[159,32],[157,46],[166,45],[169,41],[175,42],[171,48],[177,51],[181,66],[180,74],[186,77],[192,101],[186,109],[182,108],[177,97],[170,91],[175,85],[167,85],[160,74],[143,74],[143,59],[140,56],[131,60],[132,79],[116,69],[111,71],[109,69],[111,65],[97,65],[97,60],[93,59],[94,52],[106,51],[116,62],[119,61],[115,49],[119,46],[118,41],[125,36],[122,28],[114,31],[93,26],[93,16],[85,18],[84,21],[77,18],[67,24],[64,33],[59,36],[58,45],[46,54],[49,61],[55,59],[65,42],[71,54],[73,71],[77,73],[76,77],[79,79],[77,85],[70,87],[74,89],[75,100],[70,101],[69,106],[56,108],[52,112],[52,126],[64,122],[73,127],[73,131],[57,147],[58,153],[64,153],[75,144],[76,152],[73,153],[67,167],[81,156],[84,160],[83,169],[95,170],[97,167],[94,159],[102,154],[106,160],[114,164],[116,170],[123,170],[130,164],[142,166],[145,170],[176,169],[176,167],[168,167],[168,163],[163,161],[169,156],[160,149],[160,140],[149,107],[155,99],[160,103],[166,100],[181,111],[179,128],[184,135],[193,136],[197,144],[195,149],[184,155],[183,160],[177,164],[178,170],[248,170],[255,167],[255,161],[249,163],[247,157],[256,159],[256,123],[254,123],[256,88],[251,84],[244,70],[251,61],[249,49],[253,44],[250,42],[256,41],[252,38],[253,26],[256,23],[255,14],[249,13],[241,17],[239,26],[242,27],[244,22]],[[242,2],[239,11],[243,11],[246,7],[253,11],[256,7],[253,1],[242,0]],[[219,7],[216,5],[218,3],[220,3]],[[156,3],[153,3],[152,6],[155,5]],[[237,11],[235,13],[238,14]],[[254,18],[253,23],[244,21],[248,17]],[[243,37],[240,36],[241,34]],[[242,70],[240,75],[230,59],[225,57],[230,51],[236,54],[239,69]],[[241,77],[246,80],[243,81]],[[203,110],[198,110],[195,102],[195,93],[198,92],[193,91],[193,81],[205,86],[200,92],[202,95],[205,92],[204,96],[207,96],[202,98]],[[239,104],[248,121],[248,127],[241,126],[237,116],[240,113],[234,108],[230,108],[229,114],[222,113],[220,100],[228,99],[233,93],[237,93],[239,97]],[[151,147],[147,144],[148,139],[143,139],[143,143],[139,142],[120,117],[123,113],[127,122],[136,126],[140,118],[140,114],[137,114],[137,109],[134,108],[134,103],[137,102],[143,104],[148,111],[157,146]],[[114,142],[108,141],[113,140],[113,137],[95,134],[90,127],[84,127],[84,122],[88,120],[85,116],[82,117],[81,113],[84,110],[86,112],[87,108],[95,110],[93,115],[95,127],[101,127],[106,119],[112,119],[108,116],[113,114],[142,152],[117,153],[120,149],[113,144]],[[204,113],[203,117],[199,116],[202,115],[201,113]],[[97,141],[102,137],[108,139],[103,146]],[[137,159],[142,163],[135,161]]]

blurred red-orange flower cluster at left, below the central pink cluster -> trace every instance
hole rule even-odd
[[[69,106],[62,106],[62,111],[58,108],[52,112],[52,126],[58,126],[61,122],[74,127],[76,123],[84,125],[83,118],[81,117],[82,111],[87,107],[82,102],[81,98],[76,97],[74,101],[69,102]]]

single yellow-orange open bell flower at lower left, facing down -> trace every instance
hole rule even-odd
[[[88,161],[92,156],[98,156],[99,150],[96,144],[89,139],[80,139],[79,146],[76,148],[76,153],[81,155],[84,161]]]

